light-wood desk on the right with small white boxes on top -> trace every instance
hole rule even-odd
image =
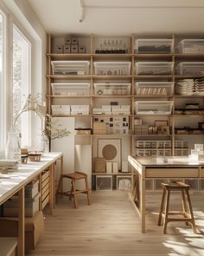
[[[145,233],[145,180],[150,178],[184,179],[204,177],[204,161],[189,163],[188,157],[169,157],[165,162],[156,158],[128,156],[132,167],[131,202],[141,218],[142,233]]]

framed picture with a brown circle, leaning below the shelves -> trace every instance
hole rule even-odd
[[[121,170],[121,139],[98,139],[98,157],[105,161],[117,161]]]

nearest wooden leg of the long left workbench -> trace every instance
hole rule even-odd
[[[19,190],[19,205],[18,205],[18,247],[17,255],[25,255],[25,207],[24,207],[24,187]]]

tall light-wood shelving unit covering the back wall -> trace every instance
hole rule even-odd
[[[144,38],[147,38],[148,35],[145,35]],[[177,135],[175,134],[175,128],[178,125],[182,125],[182,119],[189,118],[189,115],[176,115],[174,110],[176,105],[183,102],[200,102],[204,106],[204,96],[203,95],[175,95],[175,90],[173,94],[170,95],[137,95],[135,89],[135,82],[174,82],[175,86],[179,80],[182,79],[196,79],[196,78],[204,78],[204,75],[178,75],[176,73],[176,65],[178,62],[201,62],[204,58],[204,54],[181,54],[178,52],[178,42],[184,38],[188,38],[188,36],[157,36],[157,38],[170,38],[173,41],[173,50],[170,53],[137,53],[135,51],[135,40],[137,39],[137,35],[135,36],[120,36],[124,38],[124,41],[128,43],[127,49],[128,53],[125,54],[96,54],[95,49],[99,47],[99,37],[98,36],[85,36],[86,37],[86,49],[87,53],[84,54],[67,54],[67,53],[54,53],[54,43],[53,39],[57,36],[48,36],[48,75],[47,75],[47,99],[48,99],[48,114],[52,116],[51,105],[55,104],[70,104],[70,101],[76,100],[75,102],[79,101],[86,101],[86,104],[90,105],[90,115],[63,115],[64,117],[76,117],[76,118],[90,118],[90,128],[93,127],[93,119],[95,117],[119,117],[119,116],[127,116],[127,115],[93,115],[92,108],[96,105],[110,104],[111,101],[116,102],[123,102],[121,105],[129,104],[131,105],[131,115],[128,115],[129,119],[129,129],[130,132],[128,135],[122,134],[110,134],[110,135],[76,135],[80,136],[81,138],[89,136],[92,138],[91,143],[94,144],[94,141],[98,139],[98,137],[106,137],[106,138],[122,138],[122,140],[127,140],[129,144],[129,152],[127,154],[133,154],[135,151],[135,141],[140,140],[141,138],[145,137],[147,140],[150,138],[154,138],[155,140],[162,140],[163,137],[168,137],[172,143],[171,147],[171,154],[175,154],[175,140],[178,138],[183,138],[188,136],[189,140],[189,148],[192,148],[192,145],[195,142],[203,143],[204,135]],[[80,36],[83,37],[83,36]],[[110,36],[110,38],[113,36]],[[142,38],[142,36],[140,36]],[[151,37],[151,36],[150,36]],[[194,36],[196,38],[196,36]],[[102,41],[108,40],[109,36],[102,37]],[[117,38],[117,37],[116,37]],[[112,39],[110,39],[112,40]],[[98,45],[97,45],[98,43]],[[79,60],[79,61],[89,61],[90,62],[90,69],[88,75],[53,75],[51,69],[51,62],[52,61],[70,61],[70,60]],[[131,72],[129,75],[95,75],[94,72],[94,62],[131,62]],[[137,75],[136,74],[136,62],[173,62],[174,68],[172,70],[172,74],[169,75]],[[90,83],[90,93],[89,95],[53,95],[51,89],[51,82],[89,82]],[[127,95],[95,95],[94,94],[94,83],[97,82],[129,82],[131,83],[131,90],[130,93]],[[135,112],[135,102],[139,101],[172,101],[173,108],[172,113],[170,115],[137,115]],[[120,104],[120,103],[119,103]],[[53,115],[57,116],[57,115]],[[59,115],[62,116],[62,115]],[[182,119],[181,119],[182,117]],[[203,115],[194,115],[194,118],[198,118],[199,121],[204,121]],[[147,121],[147,125],[154,126],[155,121],[168,121],[168,126],[170,128],[170,134],[135,134],[135,126],[134,120],[135,119],[142,119],[142,121]],[[187,126],[187,121],[183,121],[184,126]],[[188,124],[191,125],[191,121]],[[198,137],[199,139],[196,139]],[[185,138],[186,139],[186,138]],[[182,140],[182,139],[181,139]],[[123,144],[123,142],[122,142]],[[94,148],[94,147],[93,147]],[[126,149],[125,149],[126,150]],[[94,149],[93,149],[94,151]],[[122,146],[123,151],[123,146]],[[95,152],[92,153],[92,158],[94,158]],[[93,169],[94,171],[94,169]],[[124,173],[125,174],[125,173]]]

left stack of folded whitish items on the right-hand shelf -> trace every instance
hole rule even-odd
[[[178,95],[194,95],[194,79],[179,80],[175,87]]]

